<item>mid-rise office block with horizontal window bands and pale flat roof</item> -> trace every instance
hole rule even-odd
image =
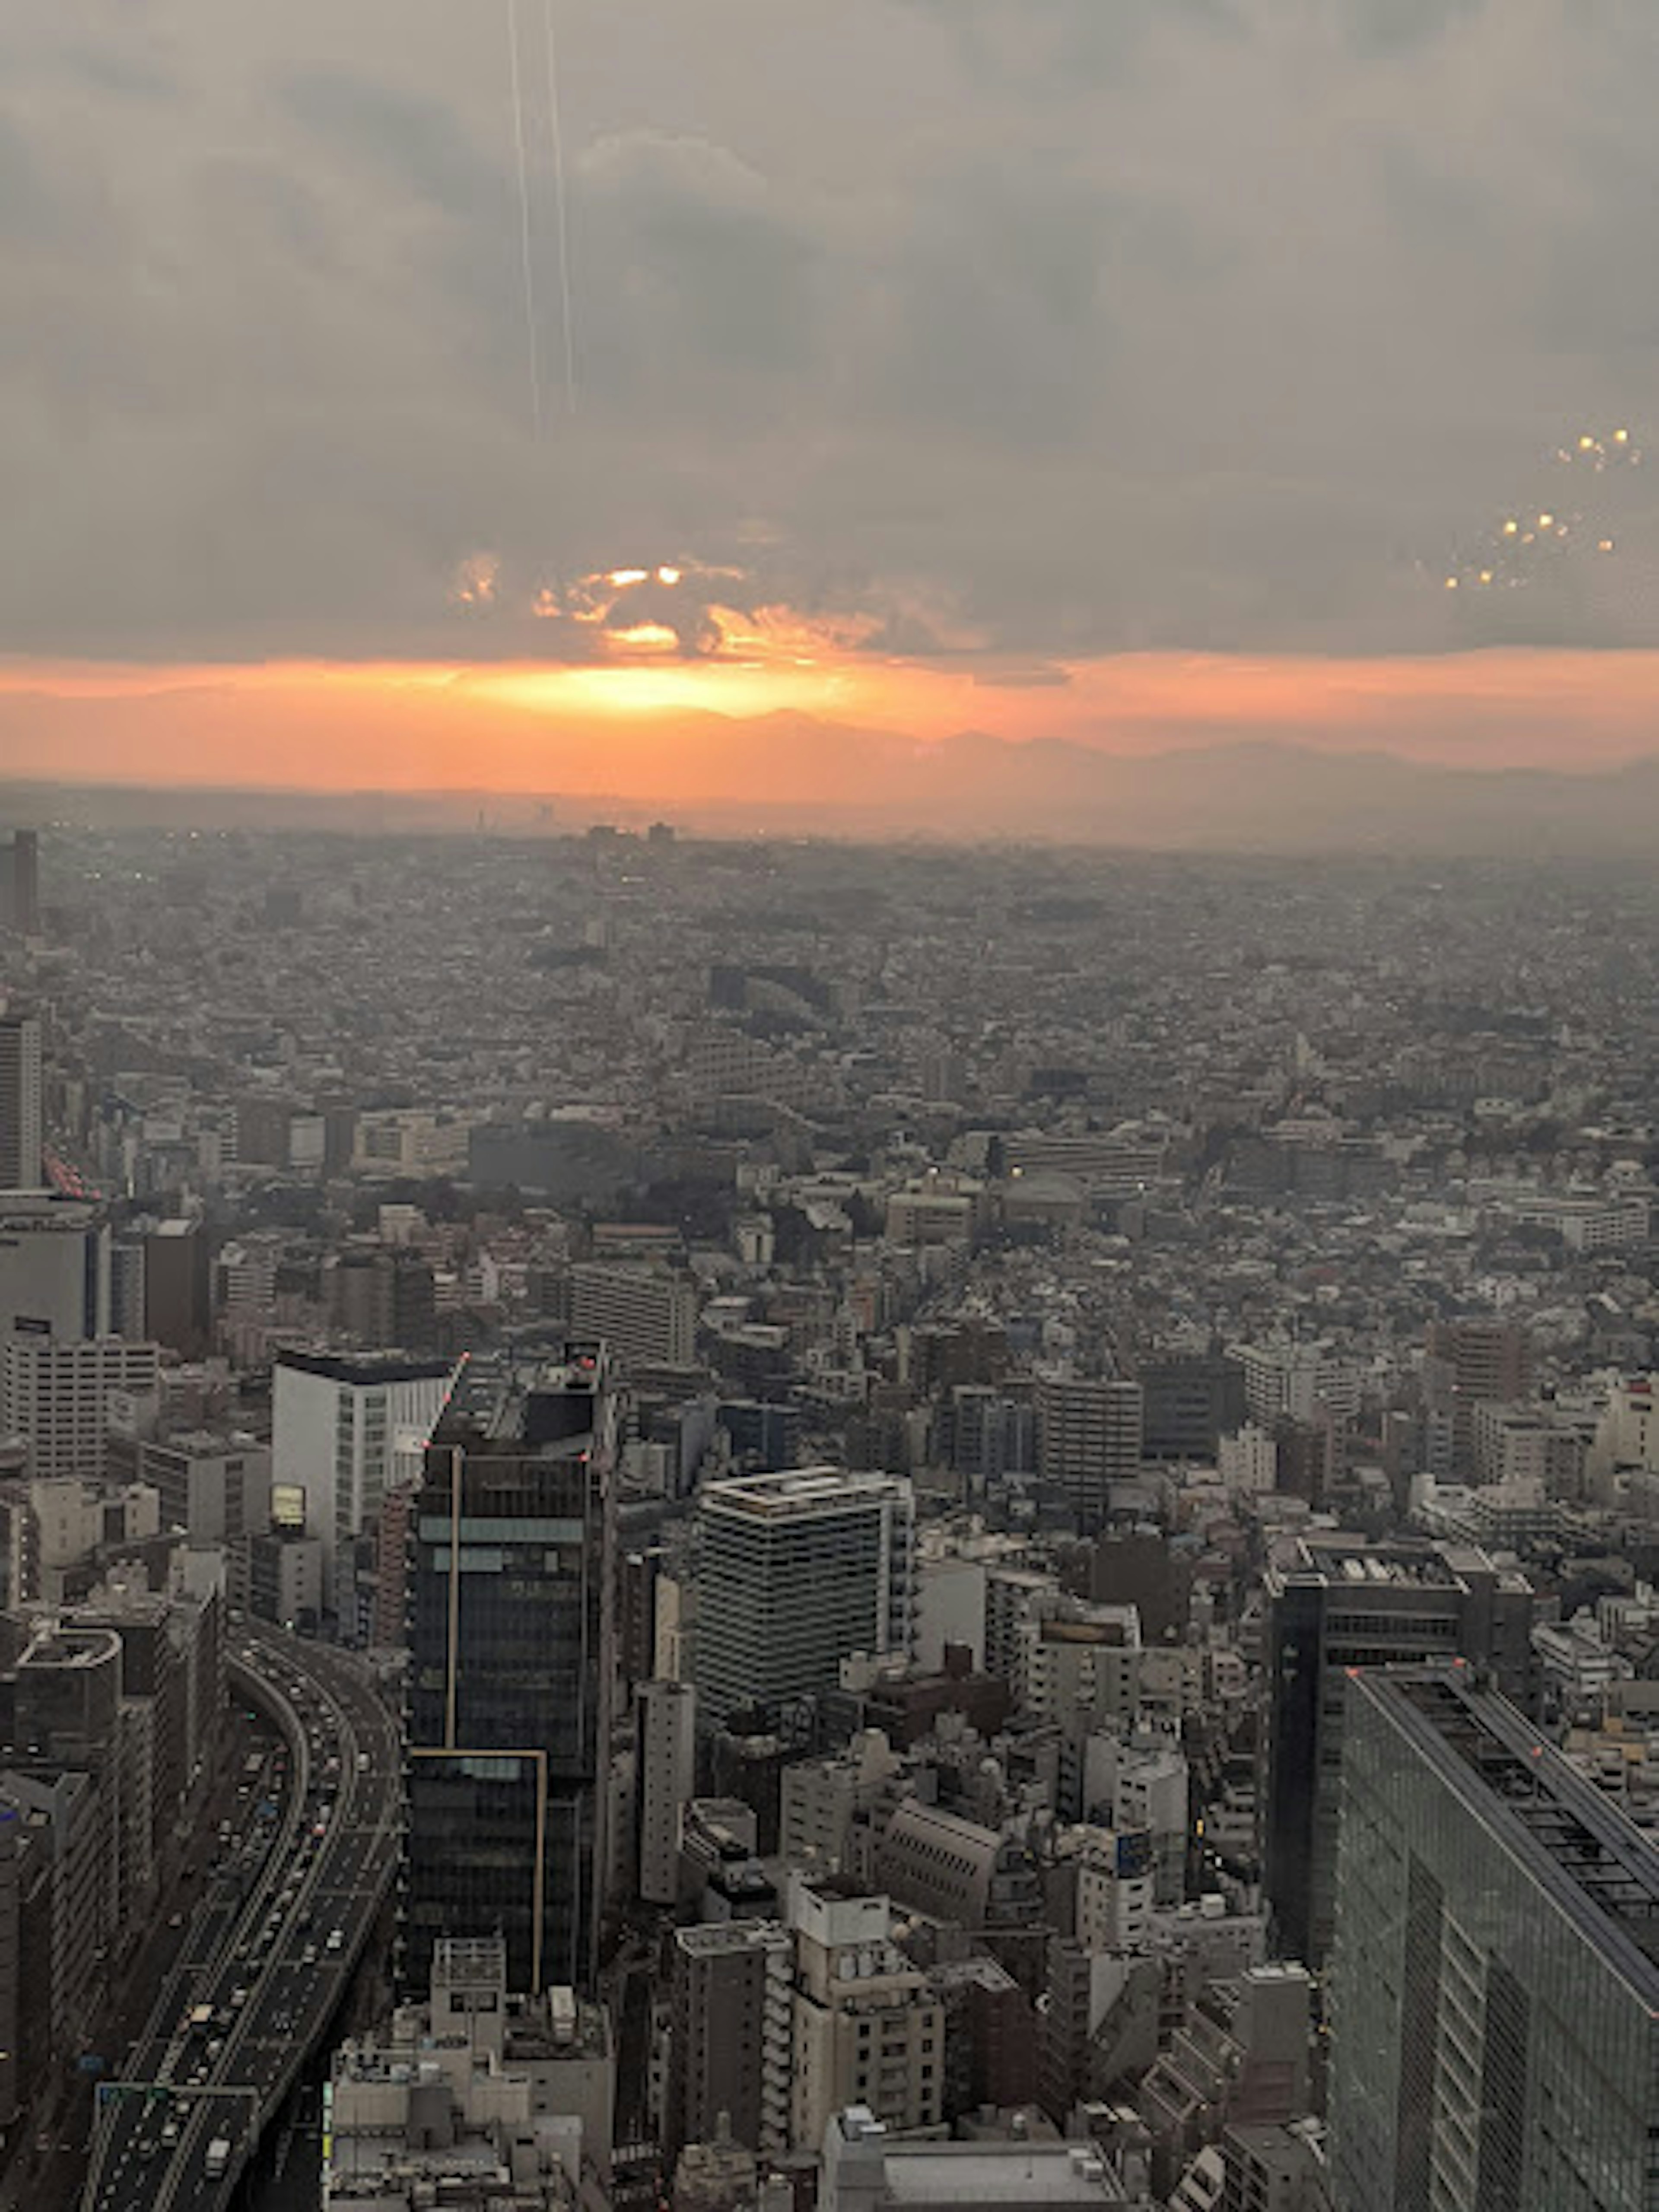
[[[902,1475],[796,1467],[708,1482],[699,1533],[701,1725],[821,1697],[854,1652],[909,1655],[916,1500]]]

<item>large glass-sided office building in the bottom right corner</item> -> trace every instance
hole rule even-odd
[[[1659,1854],[1471,1670],[1347,1683],[1343,2212],[1659,2208]]]

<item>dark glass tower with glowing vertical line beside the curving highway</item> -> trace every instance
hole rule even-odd
[[[504,1936],[513,1989],[593,1973],[615,1705],[606,1354],[473,1360],[411,1502],[403,1982]]]

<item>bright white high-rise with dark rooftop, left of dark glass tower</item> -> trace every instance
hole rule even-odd
[[[323,1544],[323,1604],[352,1540],[380,1517],[387,1491],[416,1482],[453,1380],[449,1360],[398,1354],[283,1352],[272,1374],[272,1509],[305,1498]]]

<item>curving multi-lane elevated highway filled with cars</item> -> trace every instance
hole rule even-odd
[[[398,1723],[361,1659],[261,1621],[232,1637],[239,1697],[276,1721],[290,1792],[215,1885],[102,2119],[82,2212],[230,2201],[334,2017],[396,1863]],[[243,1889],[246,1885],[246,1889]],[[221,2170],[210,2146],[230,2146]]]

